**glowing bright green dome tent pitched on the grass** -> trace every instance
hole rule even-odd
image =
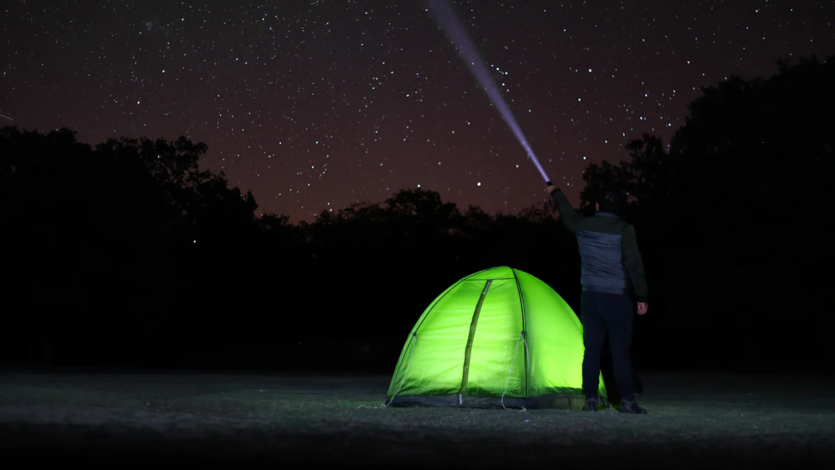
[[[486,269],[417,319],[386,406],[579,409],[583,352],[583,325],[554,289],[518,269]]]

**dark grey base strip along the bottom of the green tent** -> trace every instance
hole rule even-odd
[[[601,397],[602,398],[602,397]],[[391,397],[387,397],[387,402]],[[605,399],[604,399],[605,400]],[[395,396],[389,406],[417,407],[446,407],[446,408],[529,408],[529,409],[556,409],[556,410],[579,410],[583,407],[585,400],[582,394],[554,394],[543,396],[530,396],[528,398],[504,397],[502,399],[493,396]]]

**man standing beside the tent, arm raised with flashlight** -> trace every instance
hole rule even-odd
[[[582,217],[574,211],[565,194],[556,186],[547,191],[557,206],[565,227],[577,237],[582,260],[580,284],[580,316],[583,321],[583,411],[596,411],[600,398],[597,388],[600,377],[600,353],[606,334],[612,353],[615,382],[620,393],[623,413],[646,414],[635,403],[632,390],[632,300],[630,286],[635,287],[638,314],[646,314],[646,279],[644,263],[638,251],[635,227],[618,217],[625,197],[604,191],[597,198],[593,217]]]

